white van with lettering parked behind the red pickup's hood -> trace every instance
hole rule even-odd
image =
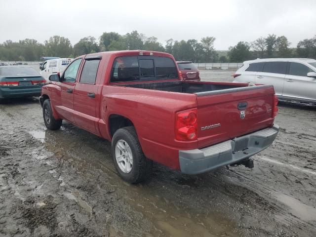
[[[62,75],[67,66],[73,60],[73,58],[58,58],[47,60],[40,66],[40,75],[44,79],[49,81],[48,78],[52,74],[60,73],[60,75]]]

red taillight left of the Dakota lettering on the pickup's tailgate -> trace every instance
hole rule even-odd
[[[176,139],[179,141],[197,139],[197,109],[177,113]]]

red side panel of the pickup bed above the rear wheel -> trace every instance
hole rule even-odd
[[[133,122],[145,156],[159,163],[179,168],[178,150],[197,147],[175,140],[175,112],[197,107],[196,95],[104,86],[101,97],[99,126],[108,140],[110,116],[121,115]]]

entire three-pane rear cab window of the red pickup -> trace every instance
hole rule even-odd
[[[171,58],[155,56],[123,56],[114,60],[111,82],[178,79]]]

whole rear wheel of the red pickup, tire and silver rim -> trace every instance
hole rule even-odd
[[[153,162],[145,157],[133,126],[115,132],[112,156],[115,168],[124,181],[135,184],[149,178]]]

